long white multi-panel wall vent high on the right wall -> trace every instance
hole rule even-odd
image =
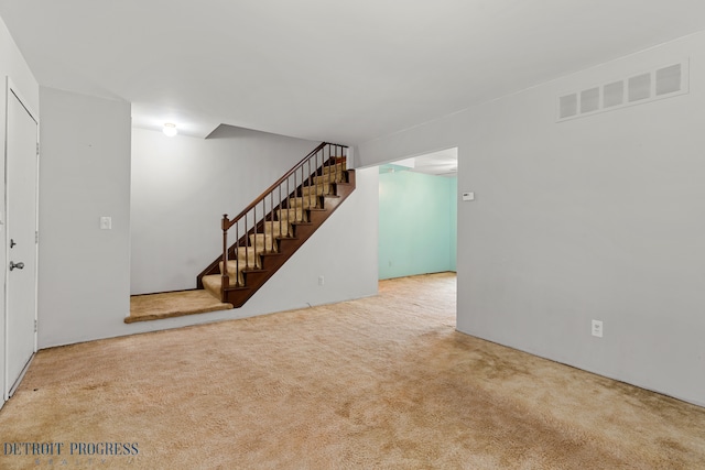
[[[558,97],[557,121],[593,116],[688,92],[688,61]]]

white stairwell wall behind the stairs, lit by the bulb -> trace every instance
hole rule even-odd
[[[196,287],[235,217],[318,142],[221,127],[209,139],[134,129],[131,293]]]

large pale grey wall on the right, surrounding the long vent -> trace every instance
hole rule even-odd
[[[690,94],[555,122],[562,94],[687,56]],[[705,405],[704,83],[698,33],[357,155],[459,147],[460,331]]]

